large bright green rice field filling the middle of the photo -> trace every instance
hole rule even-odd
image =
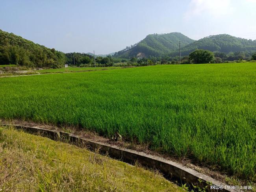
[[[255,63],[20,76],[0,85],[0,118],[119,132],[255,181]]]

